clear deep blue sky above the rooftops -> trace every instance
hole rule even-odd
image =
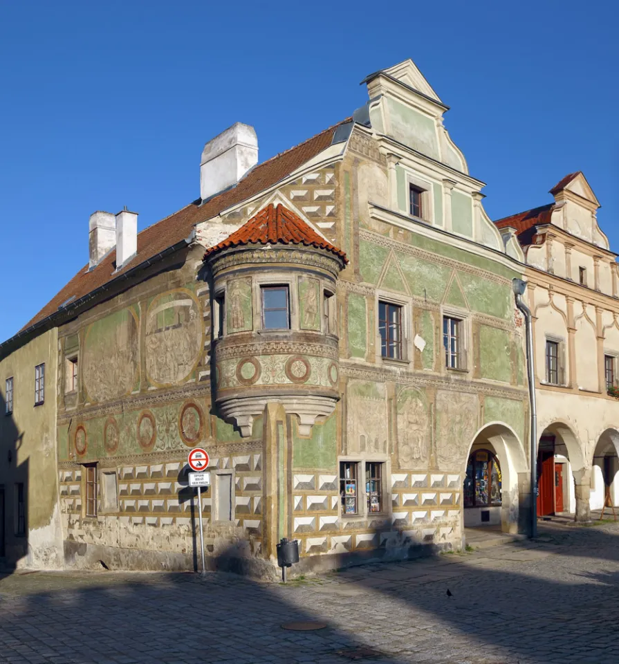
[[[492,219],[581,169],[619,252],[618,18],[609,0],[0,0],[0,340],[86,264],[91,212],[127,205],[145,228],[198,197],[202,147],[233,122],[264,160],[407,57]]]

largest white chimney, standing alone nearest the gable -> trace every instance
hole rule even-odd
[[[200,163],[203,200],[235,185],[258,163],[258,137],[249,124],[236,122],[207,142]]]

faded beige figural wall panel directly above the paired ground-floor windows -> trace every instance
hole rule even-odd
[[[384,383],[351,380],[347,393],[347,454],[386,454],[388,432]]]

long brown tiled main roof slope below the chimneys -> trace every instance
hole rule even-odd
[[[138,234],[138,252],[136,257],[118,273],[116,270],[116,251],[112,250],[98,266],[91,272],[88,271],[88,265],[84,266],[71,279],[64,288],[62,288],[42,309],[28,321],[22,330],[28,329],[37,322],[44,320],[49,315],[55,313],[59,306],[68,299],[78,300],[89,293],[92,293],[100,286],[104,286],[112,279],[127,272],[131,268],[140,265],[142,262],[156,257],[160,252],[174,246],[184,238],[188,237],[196,223],[201,223],[207,219],[212,219],[231,205],[241,203],[251,196],[259,194],[261,191],[275,185],[281,179],[288,176],[295,169],[302,166],[306,161],[315,157],[324,149],[331,145],[333,133],[341,124],[351,122],[351,118],[342,120],[338,124],[325,129],[313,138],[299,143],[296,147],[290,148],[285,152],[277,154],[275,157],[254,167],[236,187],[214,196],[212,199],[200,205],[200,201],[194,201],[178,212],[165,217],[161,221],[145,228]],[[86,230],[84,227],[84,245],[86,244]]]

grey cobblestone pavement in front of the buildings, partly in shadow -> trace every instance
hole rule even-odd
[[[0,662],[619,662],[619,524],[551,526],[432,560],[257,583],[210,573],[17,572],[0,580]],[[450,589],[452,596],[447,596]],[[317,620],[318,631],[282,623]]]

